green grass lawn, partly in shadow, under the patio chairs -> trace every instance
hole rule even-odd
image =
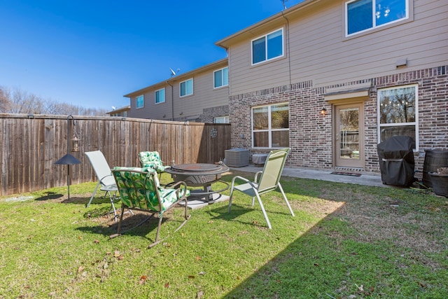
[[[248,178],[253,174],[233,172]],[[167,181],[169,176],[162,178]],[[448,199],[423,190],[282,178],[122,236],[95,183],[0,199],[0,298],[448,298]],[[228,195],[228,191],[225,194]],[[32,198],[30,198],[32,195]],[[119,206],[119,204],[118,204]],[[162,236],[182,221],[181,208]],[[125,229],[143,215],[127,216]],[[136,220],[137,219],[137,220]]]

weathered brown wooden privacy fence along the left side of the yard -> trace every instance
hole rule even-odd
[[[230,125],[168,122],[139,118],[47,116],[0,113],[1,194],[66,186],[67,165],[55,165],[66,153],[71,183],[96,181],[86,151],[102,151],[110,167],[138,167],[140,151],[158,151],[171,164],[214,163],[230,148]],[[67,151],[78,134],[79,151]]]

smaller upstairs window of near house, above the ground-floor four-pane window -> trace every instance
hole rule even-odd
[[[252,64],[283,56],[283,28],[252,41]]]

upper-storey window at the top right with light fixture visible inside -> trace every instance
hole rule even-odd
[[[346,2],[346,35],[409,18],[409,0],[354,0]]]

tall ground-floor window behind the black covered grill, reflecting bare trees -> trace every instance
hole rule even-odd
[[[415,141],[418,151],[418,86],[406,85],[378,90],[379,142],[405,135]]]

